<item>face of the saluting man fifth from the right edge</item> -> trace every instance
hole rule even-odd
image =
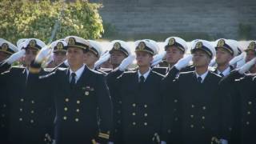
[[[136,60],[138,66],[150,66],[150,62],[153,61],[153,56],[145,51],[137,51]]]

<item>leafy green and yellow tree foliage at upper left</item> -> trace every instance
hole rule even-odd
[[[39,38],[48,42],[58,22],[55,39],[68,35],[101,38],[100,4],[86,0],[76,2],[0,0],[0,38],[17,42],[19,38]]]

